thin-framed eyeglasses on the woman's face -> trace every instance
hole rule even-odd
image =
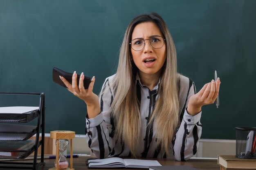
[[[149,40],[149,44],[154,48],[154,49],[161,49],[162,46],[164,46],[164,41],[166,39],[160,37],[160,36],[155,36],[152,37],[150,39],[146,39]],[[144,46],[145,46],[145,41],[143,38],[136,38],[134,40],[131,40],[131,47],[134,51],[141,51]]]

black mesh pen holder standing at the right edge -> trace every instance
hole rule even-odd
[[[256,159],[256,128],[237,127],[236,157]]]

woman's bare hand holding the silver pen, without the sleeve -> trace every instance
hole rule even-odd
[[[197,115],[201,111],[202,106],[213,104],[218,97],[219,90],[220,78],[218,78],[216,82],[211,80],[210,83],[205,84],[198,93],[190,97],[187,108],[189,115]]]

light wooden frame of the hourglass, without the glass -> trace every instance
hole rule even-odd
[[[72,139],[75,138],[75,132],[67,130],[55,130],[50,132],[50,137],[56,139],[56,168],[49,168],[49,170],[59,170],[58,159],[59,159],[59,139],[70,139],[70,168],[66,170],[74,170],[73,168],[73,144]]]

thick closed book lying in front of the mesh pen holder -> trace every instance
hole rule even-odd
[[[256,159],[236,158],[235,155],[218,155],[220,170],[256,170]]]

